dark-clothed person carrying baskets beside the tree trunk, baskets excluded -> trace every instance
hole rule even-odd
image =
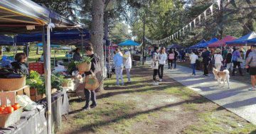
[[[85,72],[85,77],[87,77],[88,75],[92,74],[92,72],[95,73],[95,69],[96,69],[95,65],[97,65],[96,62],[99,62],[100,60],[94,54],[92,46],[87,46],[85,48],[85,51],[87,56],[92,58],[90,71]],[[90,100],[92,101],[92,104],[89,106]],[[96,106],[97,106],[97,103],[96,103],[95,91],[90,91],[88,89],[85,89],[85,106],[82,107],[82,110],[86,111],[90,108],[95,108]]]

